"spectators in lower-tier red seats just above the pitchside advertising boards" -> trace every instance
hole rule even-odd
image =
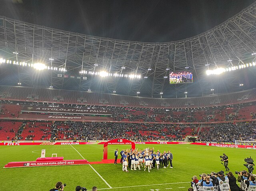
[[[10,122],[11,123],[11,122]],[[12,140],[111,140],[125,138],[136,141],[180,140],[198,136],[200,142],[234,142],[255,140],[256,122],[219,124],[146,124],[110,122],[23,122]],[[26,125],[25,125],[26,123]],[[6,131],[6,130],[5,130]],[[25,133],[26,132],[26,133]],[[1,133],[1,130],[0,130]],[[7,136],[6,136],[7,138]]]

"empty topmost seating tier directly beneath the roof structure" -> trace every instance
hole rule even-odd
[[[144,98],[81,91],[0,86],[0,100],[121,106],[136,108],[198,108],[256,101],[256,89],[195,98]]]

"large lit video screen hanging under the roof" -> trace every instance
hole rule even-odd
[[[191,71],[170,72],[170,84],[193,83],[193,74]]]

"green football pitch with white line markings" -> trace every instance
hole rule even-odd
[[[64,159],[100,161],[103,145],[40,145],[40,146],[0,146],[0,191],[36,190],[48,191],[57,181],[66,183],[65,191],[74,191],[77,185],[91,190],[97,186],[102,191],[187,191],[191,177],[200,173],[224,170],[219,156],[225,153],[229,158],[230,171],[245,169],[244,158],[256,159],[256,151],[236,148],[219,148],[196,145],[136,145],[138,149],[154,147],[155,150],[170,150],[173,153],[173,169],[167,167],[158,171],[122,171],[121,164],[70,165],[50,167],[3,168],[11,161],[35,161],[41,150],[46,149],[46,157],[57,153]],[[108,146],[108,158],[114,158],[114,150],[119,152],[128,146]],[[120,155],[118,158],[120,162]],[[94,171],[95,170],[95,171]]]

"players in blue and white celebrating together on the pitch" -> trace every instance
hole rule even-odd
[[[131,170],[141,170],[144,167],[144,171],[146,171],[146,168],[148,168],[148,172],[152,168],[157,167],[159,170],[159,167],[164,168],[169,166],[170,163],[170,168],[172,168],[172,153],[170,151],[166,152],[164,151],[161,153],[159,150],[157,152],[154,152],[154,148],[146,148],[143,150],[138,150],[138,149],[127,149],[127,150],[122,150],[120,152],[121,155],[121,161],[122,163],[122,171],[127,170],[127,166],[130,167]]]

